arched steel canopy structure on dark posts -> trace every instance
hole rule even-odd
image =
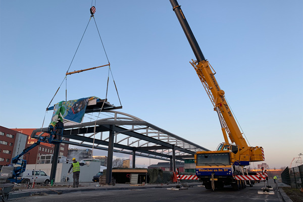
[[[92,111],[90,110],[90,112]],[[99,119],[100,113],[106,118]],[[171,161],[172,170],[175,170],[176,161],[191,159],[196,151],[209,150],[123,112],[104,110],[99,112],[99,115],[96,117],[93,114],[85,114],[85,119],[96,120],[65,126],[62,143],[108,150],[108,170],[112,168],[114,152],[132,155],[133,168],[135,168],[135,157],[139,156]],[[47,128],[36,129],[32,132],[31,137],[38,138],[44,132],[47,132]],[[56,146],[53,163],[57,162],[56,156],[58,158]],[[59,151],[60,146],[57,147]],[[54,172],[56,172],[56,167],[54,165]],[[108,173],[111,175],[111,172]],[[109,181],[107,177],[107,182],[110,183],[110,181],[111,176]]]

